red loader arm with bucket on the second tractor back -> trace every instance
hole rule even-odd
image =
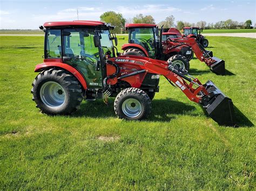
[[[197,59],[201,62],[205,62],[208,67],[214,73],[224,75],[225,74],[225,61],[217,57],[211,57],[206,49],[198,42],[195,38],[176,38],[172,39],[177,43],[184,43],[185,45],[191,46]]]

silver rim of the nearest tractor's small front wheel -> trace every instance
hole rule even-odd
[[[128,98],[122,104],[122,110],[127,117],[138,117],[142,113],[142,104],[134,98]]]

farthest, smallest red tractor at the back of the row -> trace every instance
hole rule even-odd
[[[203,29],[198,27],[183,27],[183,37],[196,38],[199,43],[204,47],[208,47],[208,40],[201,34]]]

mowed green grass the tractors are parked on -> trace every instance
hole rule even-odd
[[[0,189],[255,189],[256,41],[208,40],[228,75],[196,59],[191,73],[232,98],[240,128],[219,126],[164,77],[145,121],[118,119],[113,98],[41,114],[30,89],[43,37],[0,37]]]

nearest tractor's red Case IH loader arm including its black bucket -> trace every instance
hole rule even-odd
[[[183,72],[166,61],[154,60],[143,56],[119,56],[110,58],[117,66],[130,65],[139,68],[126,76],[138,75],[139,73],[160,74],[177,86],[193,102],[199,103],[208,116],[220,125],[234,125],[233,102],[225,96],[213,82],[202,84],[197,78]],[[109,63],[109,62],[107,62]],[[122,74],[117,74],[116,79],[107,83],[125,79]],[[113,83],[112,83],[113,84]]]

